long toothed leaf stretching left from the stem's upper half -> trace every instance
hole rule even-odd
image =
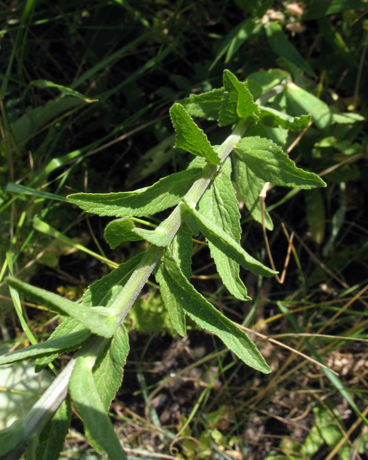
[[[147,214],[153,215],[178,204],[200,172],[201,168],[189,168],[164,177],[151,187],[138,189],[134,192],[76,193],[67,198],[88,213],[99,216],[142,217]]]

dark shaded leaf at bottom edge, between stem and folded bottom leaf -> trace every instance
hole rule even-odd
[[[64,446],[72,420],[72,405],[70,396],[66,395],[53,417],[45,425],[38,438],[36,449],[37,460],[57,460]]]

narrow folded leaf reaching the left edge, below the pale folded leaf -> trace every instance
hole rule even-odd
[[[37,343],[37,345],[31,345],[30,347],[0,356],[0,365],[22,361],[24,359],[39,358],[50,353],[55,353],[55,351],[60,355],[63,350],[75,350],[81,343],[87,340],[89,336],[90,332],[88,329],[84,328],[80,331],[63,335],[62,337],[49,339],[45,342]]]

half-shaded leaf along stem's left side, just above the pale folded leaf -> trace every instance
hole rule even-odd
[[[106,308],[111,307],[144,255],[145,252],[137,254],[127,262],[119,265],[111,273],[91,284],[83,294],[84,306],[97,307],[102,305]]]

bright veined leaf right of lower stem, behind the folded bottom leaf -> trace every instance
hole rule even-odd
[[[128,353],[129,337],[125,327],[121,325],[99,354],[92,370],[97,393],[106,412],[108,412],[111,401],[121,386],[123,367]],[[102,453],[103,447],[93,438],[87,427],[85,427],[85,434],[91,446],[99,453]]]

